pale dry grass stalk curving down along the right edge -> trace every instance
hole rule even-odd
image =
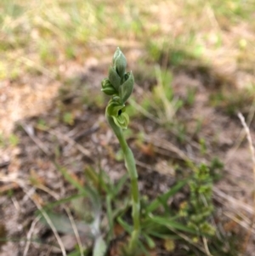
[[[246,121],[245,121],[245,118],[243,117],[241,112],[238,113],[238,117],[241,120],[241,124],[242,124],[242,126],[243,126],[243,128],[245,129],[245,132],[246,132],[246,138],[248,140],[249,149],[250,149],[251,155],[252,155],[252,168],[253,168],[253,216],[252,216],[252,224],[251,224],[250,230],[247,233],[246,242],[245,242],[245,245],[243,247],[244,252],[246,252],[247,245],[250,241],[251,234],[252,234],[252,229],[253,229],[253,226],[254,226],[254,223],[255,223],[255,151],[254,151],[254,147],[252,145],[252,136],[251,136],[251,133],[250,133],[250,129],[248,128],[248,126],[246,124]]]

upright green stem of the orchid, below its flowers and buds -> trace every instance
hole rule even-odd
[[[129,251],[133,252],[135,249],[140,232],[140,220],[139,220],[139,212],[140,212],[140,201],[139,201],[139,185],[138,185],[138,174],[136,170],[135,160],[133,157],[133,152],[127,145],[127,141],[124,138],[122,128],[116,126],[116,123],[113,121],[112,117],[109,117],[106,114],[106,119],[109,122],[114,134],[116,134],[117,139],[120,142],[122,147],[122,151],[125,158],[125,166],[127,168],[127,172],[131,179],[131,193],[132,193],[132,217],[133,217],[133,232],[131,235],[131,240],[129,243]]]

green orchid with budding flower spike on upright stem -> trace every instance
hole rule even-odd
[[[129,253],[133,253],[137,246],[140,232],[140,202],[138,174],[133,152],[128,147],[122,132],[123,129],[127,128],[129,122],[125,104],[133,92],[134,84],[133,73],[132,71],[126,72],[126,67],[126,57],[122,54],[120,48],[116,48],[116,52],[113,55],[113,65],[109,69],[108,77],[101,83],[101,90],[111,96],[111,100],[106,106],[105,117],[120,142],[125,159],[125,166],[131,179],[133,232],[128,245],[128,251]]]

